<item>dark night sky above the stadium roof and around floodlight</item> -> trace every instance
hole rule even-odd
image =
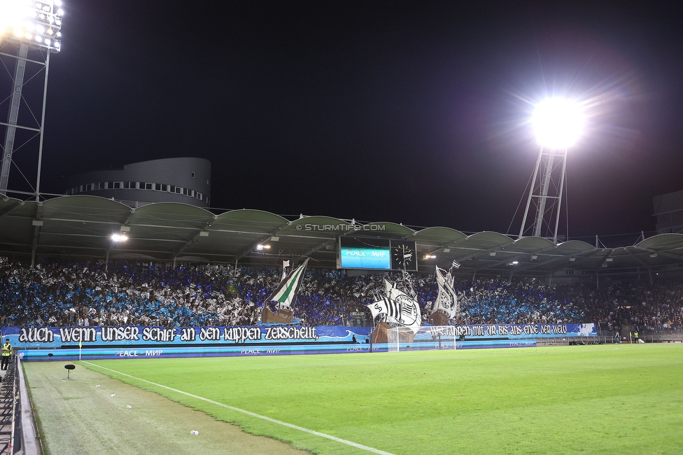
[[[588,116],[570,237],[654,230],[683,190],[683,9],[501,3],[66,0],[41,189],[197,156],[221,209],[516,233],[533,104],[563,95]]]

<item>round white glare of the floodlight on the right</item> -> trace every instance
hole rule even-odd
[[[549,98],[536,106],[531,123],[540,146],[568,148],[581,136],[584,116],[577,102]]]

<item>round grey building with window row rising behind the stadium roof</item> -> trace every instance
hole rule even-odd
[[[211,203],[211,162],[204,158],[166,158],[125,165],[123,169],[83,172],[69,179],[67,195],[94,195],[130,207],[153,202]]]

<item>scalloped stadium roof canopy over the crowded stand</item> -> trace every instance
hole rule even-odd
[[[114,233],[129,239],[115,243]],[[101,197],[73,195],[44,202],[0,198],[0,255],[10,260],[72,258],[154,262],[296,263],[337,267],[337,239],[388,237],[414,240],[418,270],[434,265],[459,273],[555,276],[669,273],[683,270],[683,235],[649,237],[633,246],[596,248],[584,241],[554,244],[540,237],[514,240],[497,232],[465,235],[450,228],[412,230],[395,223],[367,223],[328,216],[288,220],[259,210],[221,214],[187,204],[149,204],[132,209]],[[260,249],[259,246],[265,246]],[[433,256],[433,257],[431,257]]]

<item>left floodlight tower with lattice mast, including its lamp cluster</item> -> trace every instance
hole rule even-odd
[[[10,167],[15,164],[12,155],[29,141],[38,137],[38,166],[36,186],[31,193],[40,198],[41,162],[43,159],[43,125],[45,123],[45,97],[48,89],[48,66],[50,53],[59,52],[62,48],[62,2],[61,0],[0,0],[0,59],[11,59],[15,63],[15,71],[10,81],[8,97],[0,96],[0,106],[9,101],[7,121],[0,122],[5,130],[2,144],[2,167],[0,169],[0,194],[8,193]],[[36,66],[38,69],[24,80],[26,67]],[[5,64],[5,66],[8,66]],[[11,66],[11,64],[9,65]],[[37,99],[22,96],[22,88],[38,73],[43,71],[42,104]],[[3,87],[4,88],[4,87]],[[4,100],[4,101],[1,101]],[[20,116],[20,106],[22,109]],[[36,111],[40,108],[40,120]],[[15,146],[17,130],[25,132],[25,139]],[[22,174],[24,174],[22,172]],[[24,176],[25,179],[25,176]],[[27,181],[27,183],[30,182]]]

